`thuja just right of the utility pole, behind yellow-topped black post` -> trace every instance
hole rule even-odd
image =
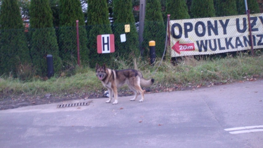
[[[162,57],[165,48],[165,25],[160,0],[147,0],[143,33],[144,56],[149,56],[149,41],[155,41],[157,57]]]

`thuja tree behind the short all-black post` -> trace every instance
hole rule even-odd
[[[40,76],[47,74],[47,54],[52,54],[54,71],[58,73],[62,65],[49,0],[31,0],[29,15],[32,34],[31,55],[36,73]]]

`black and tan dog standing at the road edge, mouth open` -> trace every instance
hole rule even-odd
[[[154,79],[145,80],[142,73],[134,69],[125,70],[112,70],[106,68],[105,63],[102,66],[96,64],[96,76],[102,82],[102,85],[108,89],[109,100],[106,103],[110,103],[112,100],[112,95],[114,95],[114,102],[112,104],[118,103],[118,88],[127,84],[128,87],[134,92],[134,98],[130,101],[135,101],[138,94],[141,94],[141,99],[139,102],[144,101],[144,92],[141,86],[148,87],[153,84]]]

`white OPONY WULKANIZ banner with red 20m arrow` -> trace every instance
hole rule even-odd
[[[250,14],[254,49],[263,48],[263,13]],[[251,49],[247,15],[170,21],[171,56]]]

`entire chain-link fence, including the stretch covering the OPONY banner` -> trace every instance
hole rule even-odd
[[[160,55],[157,56],[157,60],[164,57],[165,50],[166,55],[169,55],[166,57],[174,58],[263,48],[263,14],[251,14],[251,26],[248,24],[248,15],[170,20],[168,22],[167,39],[165,36],[160,37],[163,38],[163,42],[156,42],[156,44],[163,44],[159,47],[160,49],[156,49],[157,52],[160,52],[157,53]],[[106,63],[116,68],[116,60],[132,64],[134,58],[141,58],[137,30],[125,33],[124,25],[111,26],[112,32],[92,30],[96,27],[106,27],[105,25],[79,26],[81,65],[93,68],[96,63]],[[117,28],[123,28],[123,31],[115,33]],[[45,76],[47,54],[53,55],[56,74],[60,74],[63,70],[74,70],[77,66],[76,30],[75,26],[25,28],[22,31],[1,30],[0,74],[21,74],[23,71],[32,71],[30,74],[25,74],[25,77],[27,75]],[[97,53],[97,35],[100,34],[114,34],[114,53]],[[120,39],[120,35],[123,34],[126,37],[124,42]],[[166,48],[166,41],[168,48]],[[105,48],[109,46],[106,43]],[[20,46],[22,44],[26,46]],[[143,50],[149,50],[149,47],[145,44]],[[149,55],[143,55],[143,57],[144,60],[149,60]]]

